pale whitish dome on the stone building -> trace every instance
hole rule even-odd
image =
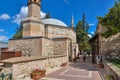
[[[51,25],[67,27],[67,25],[64,22],[62,22],[62,21],[60,21],[58,19],[49,18],[49,19],[43,19],[42,21],[43,21],[44,24],[51,24]]]

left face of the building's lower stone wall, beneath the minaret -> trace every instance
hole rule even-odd
[[[22,51],[23,56],[42,55],[42,38],[11,39],[9,51]]]

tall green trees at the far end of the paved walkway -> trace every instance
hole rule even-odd
[[[85,21],[85,15],[83,15],[82,21],[78,21],[76,25],[76,38],[77,38],[77,43],[79,45],[79,50],[84,50],[84,51],[90,51],[91,46],[88,43],[90,37],[88,37],[88,24],[86,25]]]

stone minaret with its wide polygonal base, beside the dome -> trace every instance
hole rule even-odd
[[[40,20],[41,0],[28,0],[28,15],[22,21],[23,37],[44,36],[44,25]]]

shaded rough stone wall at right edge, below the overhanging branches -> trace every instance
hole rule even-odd
[[[105,54],[120,57],[120,33],[105,39],[102,50]]]

